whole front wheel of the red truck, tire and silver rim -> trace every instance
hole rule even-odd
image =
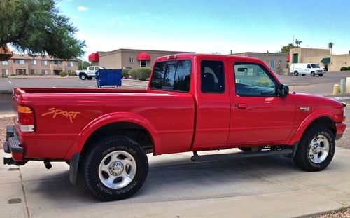
[[[314,126],[304,132],[294,156],[303,170],[320,171],[330,164],[335,153],[335,137],[324,126]]]

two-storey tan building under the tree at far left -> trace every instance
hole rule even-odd
[[[48,56],[30,57],[13,54],[10,60],[0,62],[1,76],[14,75],[59,75],[59,72],[76,71],[76,60],[55,60]]]

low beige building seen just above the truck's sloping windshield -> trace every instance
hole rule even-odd
[[[283,74],[287,67],[287,55],[281,53],[236,53],[233,55],[255,57],[264,62],[275,74]]]

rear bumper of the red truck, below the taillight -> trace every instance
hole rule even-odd
[[[12,155],[13,161],[23,161],[23,148],[15,126],[6,127],[6,142],[3,142],[3,151]],[[5,161],[4,161],[5,163]]]

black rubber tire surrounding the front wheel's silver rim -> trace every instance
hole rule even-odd
[[[321,151],[319,153],[315,150],[314,158],[311,158],[309,154],[309,148],[311,147],[311,142],[314,142],[314,139],[324,139],[328,142],[328,154],[325,156],[324,160],[315,163],[314,158],[316,156],[319,156],[321,154]],[[320,147],[325,148],[326,144],[323,142],[318,143]],[[312,151],[311,151],[312,152]],[[297,147],[297,151],[294,156],[294,162],[295,164],[301,168],[302,170],[314,172],[314,171],[321,171],[330,164],[330,161],[332,161],[332,158],[335,153],[335,137],[332,131],[330,129],[326,128],[325,126],[315,125],[311,128],[307,129],[304,134],[302,135],[302,139],[300,140],[300,144]],[[322,156],[321,156],[322,157]],[[322,160],[322,159],[321,159]]]

